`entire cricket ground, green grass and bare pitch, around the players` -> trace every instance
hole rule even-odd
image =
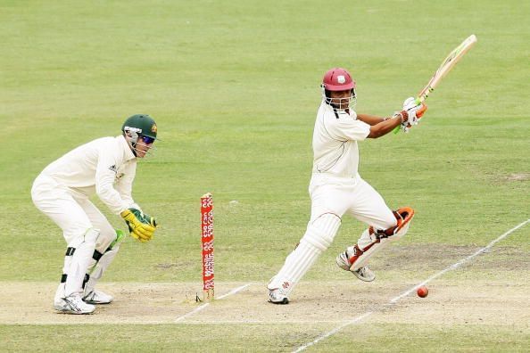
[[[0,1],[0,350],[530,350],[529,16],[514,0]],[[472,33],[418,127],[360,144],[360,175],[417,212],[373,261],[377,281],[335,267],[364,228],[346,218],[292,304],[268,304],[265,285],[309,218],[324,72],[351,70],[357,111],[387,115]],[[54,314],[65,243],[31,183],[140,112],[163,141],[139,163],[134,196],[161,228],[121,247],[102,283],[112,305]],[[242,289],[197,310],[206,192],[216,294]],[[436,277],[425,300],[389,304],[518,225]]]

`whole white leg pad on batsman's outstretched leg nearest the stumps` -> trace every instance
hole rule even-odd
[[[279,289],[288,296],[320,254],[331,245],[340,225],[341,218],[331,213],[312,221],[300,244],[287,256],[284,266],[270,281],[269,290]]]

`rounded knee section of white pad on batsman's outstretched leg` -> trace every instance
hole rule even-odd
[[[333,213],[325,213],[307,227],[301,242],[307,242],[319,250],[327,250],[341,226],[341,218]]]

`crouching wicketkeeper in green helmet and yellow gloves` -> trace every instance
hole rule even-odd
[[[94,304],[112,302],[112,295],[95,284],[120,250],[125,234],[112,228],[89,200],[94,193],[125,219],[130,235],[140,242],[153,238],[154,218],[132,199],[137,159],[144,158],[156,139],[148,115],[133,115],[116,137],[103,137],[66,153],[48,165],[33,183],[31,198],[61,227],[67,243],[61,283],[54,308],[70,314],[90,314]]]

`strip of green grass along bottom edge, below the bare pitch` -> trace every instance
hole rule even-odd
[[[7,339],[0,348],[32,351],[272,351],[288,352],[313,341],[320,331],[332,327],[323,324],[278,324],[267,332],[260,325],[0,325]],[[288,331],[287,331],[288,330]],[[21,332],[24,332],[21,335]],[[236,332],[236,333],[235,333]],[[494,333],[493,333],[494,332]],[[94,337],[98,337],[95,341]],[[525,351],[530,335],[511,326],[486,324],[370,324],[352,325],[311,351]],[[36,348],[32,342],[54,341],[53,346]],[[183,343],[185,342],[185,343]],[[252,348],[252,349],[251,349]]]

